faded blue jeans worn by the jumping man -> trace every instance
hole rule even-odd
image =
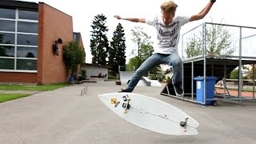
[[[133,77],[128,83],[128,86],[126,87],[126,90],[132,92],[134,87],[138,84],[138,81],[142,78],[143,74],[146,74],[148,71],[160,64],[173,66],[174,75],[172,77],[172,82],[174,84],[182,83],[182,59],[180,56],[178,54],[155,53],[152,54],[150,58],[147,58],[146,61],[139,66],[138,70],[135,71]]]

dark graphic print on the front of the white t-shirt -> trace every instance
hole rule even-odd
[[[175,47],[178,38],[178,22],[174,22],[170,26],[157,23],[158,29],[158,46],[162,48]]]

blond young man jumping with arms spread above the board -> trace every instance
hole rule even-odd
[[[139,66],[126,89],[122,89],[120,92],[132,92],[143,74],[146,74],[149,70],[153,69],[154,66],[166,64],[173,67],[174,74],[172,83],[174,85],[175,94],[177,96],[182,96],[184,93],[182,89],[182,59],[178,55],[178,42],[181,27],[187,22],[204,18],[210,11],[210,8],[214,5],[214,2],[216,2],[216,0],[210,0],[198,14],[192,16],[175,15],[178,5],[173,1],[162,3],[160,6],[161,14],[153,19],[121,18],[120,16],[115,15],[114,18],[130,22],[142,22],[154,26],[158,36],[158,46],[154,47],[154,54]]]

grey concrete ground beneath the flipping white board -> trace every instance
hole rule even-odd
[[[2,102],[0,144],[256,143],[256,102],[201,106],[160,95],[163,87],[137,86],[134,93],[177,106],[200,123],[196,136],[169,136],[126,122],[97,97],[120,87],[114,81],[88,82]]]

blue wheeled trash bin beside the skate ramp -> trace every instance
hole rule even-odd
[[[217,78],[206,77],[206,102],[204,102],[204,81],[203,77],[194,78],[197,87],[197,102],[206,106],[214,105],[214,89]],[[208,100],[209,99],[209,100]]]

